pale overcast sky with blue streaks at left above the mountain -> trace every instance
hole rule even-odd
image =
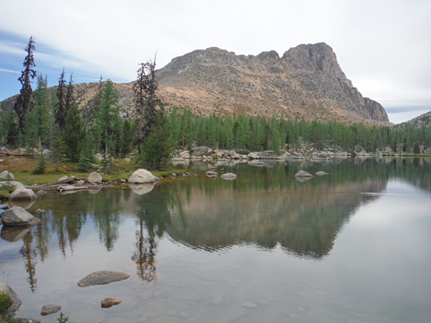
[[[0,13],[0,101],[20,90],[33,35],[36,69],[49,85],[63,67],[75,83],[101,75],[133,81],[138,63],[155,52],[163,67],[208,47],[282,56],[298,44],[326,42],[391,122],[431,110],[430,0],[5,0]]]

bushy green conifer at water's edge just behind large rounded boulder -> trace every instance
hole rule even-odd
[[[153,127],[152,132],[149,134],[140,159],[138,159],[144,168],[165,170],[168,167],[170,154],[174,149],[171,134],[168,117],[165,116],[163,110],[159,110],[157,113],[157,125]]]

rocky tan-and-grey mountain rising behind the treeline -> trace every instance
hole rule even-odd
[[[340,122],[389,122],[384,108],[354,88],[332,48],[301,44],[286,51],[236,55],[211,47],[172,59],[157,71],[163,102],[188,106],[200,115],[266,115],[336,119]],[[132,83],[115,84],[120,104],[133,111]],[[90,113],[97,83],[76,84],[76,101]],[[13,98],[0,108],[13,106]]]

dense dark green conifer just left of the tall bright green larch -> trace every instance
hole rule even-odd
[[[66,154],[73,162],[78,162],[83,142],[86,139],[85,124],[79,115],[76,105],[70,106],[65,119],[65,133],[63,135]]]

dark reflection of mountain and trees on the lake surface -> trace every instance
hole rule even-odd
[[[164,234],[206,252],[221,252],[235,245],[257,245],[266,250],[279,245],[288,254],[322,260],[330,254],[352,213],[379,198],[378,194],[361,193],[382,192],[391,178],[431,192],[431,163],[425,158],[337,159],[323,165],[304,160],[271,161],[263,167],[236,162],[191,164],[199,176],[164,180],[143,194],[124,188],[103,189],[97,194],[43,195],[28,208],[30,213],[37,208],[47,210],[37,215],[42,222],[24,231],[3,227],[1,238],[22,241],[19,254],[35,292],[36,266],[49,258],[52,245],[58,245],[66,258],[73,254],[83,229],[94,224],[104,249],[112,252],[123,220],[132,217],[136,240],[128,257],[140,280],[149,283],[156,280],[158,245]],[[237,179],[207,178],[204,171],[212,165],[217,171],[222,167],[237,174]],[[329,175],[300,183],[294,177],[300,169]]]

